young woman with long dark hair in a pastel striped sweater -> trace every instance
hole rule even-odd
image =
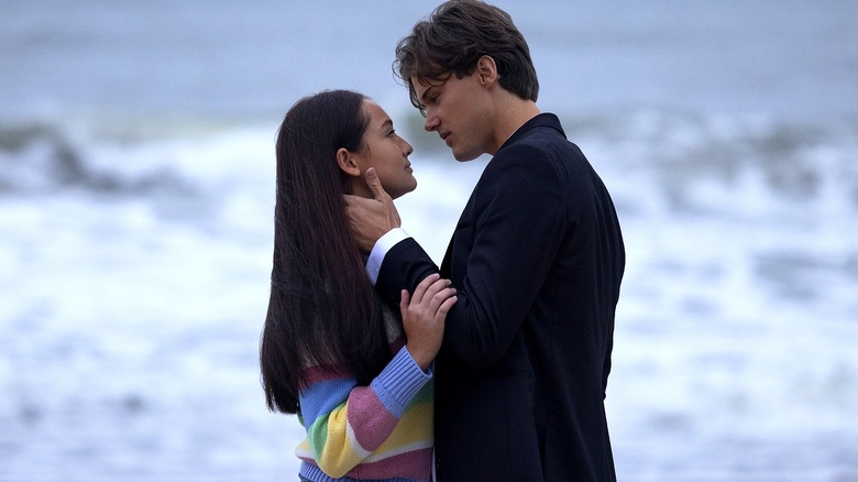
[[[431,362],[455,303],[427,277],[398,309],[377,296],[343,195],[372,197],[374,169],[396,198],[417,187],[411,146],[352,91],[299,100],[277,136],[274,267],[260,361],[268,408],[298,414],[300,478],[431,480]],[[397,313],[398,311],[398,313]]]

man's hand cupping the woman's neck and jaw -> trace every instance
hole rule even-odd
[[[374,168],[366,169],[365,180],[373,198],[345,195],[345,215],[349,217],[354,242],[369,253],[381,237],[402,226],[402,221],[393,199],[382,187]]]

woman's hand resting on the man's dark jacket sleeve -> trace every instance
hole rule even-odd
[[[406,348],[424,371],[441,349],[444,320],[455,300],[455,288],[450,286],[450,280],[441,280],[437,273],[424,278],[413,296],[407,289],[402,292],[399,310],[408,340]]]

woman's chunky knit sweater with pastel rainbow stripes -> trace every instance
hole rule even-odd
[[[298,420],[307,438],[295,449],[300,475],[311,481],[430,481],[432,464],[431,371],[405,348],[369,386],[342,370],[311,366],[299,392]]]

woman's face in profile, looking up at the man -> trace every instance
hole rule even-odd
[[[354,164],[361,174],[352,180],[353,193],[372,197],[363,177],[370,167],[375,167],[382,187],[392,198],[413,191],[417,187],[417,179],[408,155],[414,149],[394,131],[393,121],[377,103],[364,99],[363,113],[370,123],[363,134],[364,147],[353,153]]]

